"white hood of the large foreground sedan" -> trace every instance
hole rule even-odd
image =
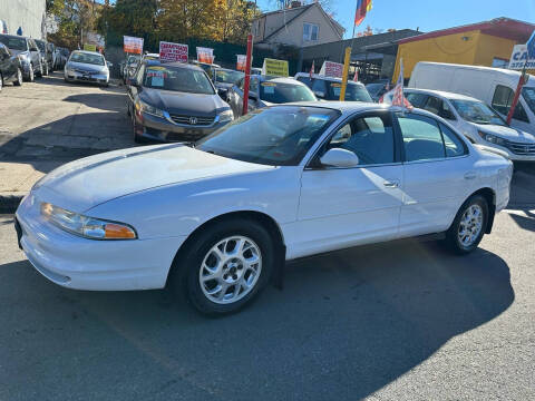
[[[39,180],[41,202],[84,213],[120,196],[164,185],[273,167],[230,159],[181,144],[114,150],[68,163]]]

